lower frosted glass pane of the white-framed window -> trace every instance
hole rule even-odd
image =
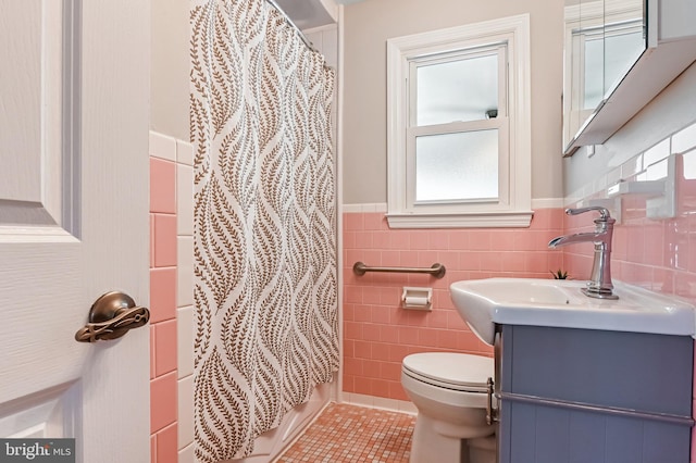
[[[498,198],[498,130],[415,138],[415,201]]]

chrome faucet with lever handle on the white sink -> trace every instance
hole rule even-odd
[[[577,215],[589,211],[599,212],[599,218],[595,220],[594,232],[559,236],[550,240],[548,247],[555,249],[576,242],[594,243],[595,261],[592,265],[592,274],[589,281],[587,281],[587,287],[583,288],[582,291],[591,298],[619,299],[613,293],[613,285],[611,284],[611,235],[613,234],[613,224],[617,221],[611,218],[606,208],[601,207],[567,209],[566,214]]]

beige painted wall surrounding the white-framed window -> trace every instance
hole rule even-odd
[[[562,198],[563,2],[369,0],[344,10],[344,203],[380,203],[386,187],[386,40],[530,13],[532,198]]]

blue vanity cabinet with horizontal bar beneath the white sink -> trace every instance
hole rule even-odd
[[[498,326],[498,452],[505,463],[685,463],[694,340]]]

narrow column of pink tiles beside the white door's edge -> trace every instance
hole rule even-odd
[[[176,165],[150,158],[150,453],[177,461]]]

